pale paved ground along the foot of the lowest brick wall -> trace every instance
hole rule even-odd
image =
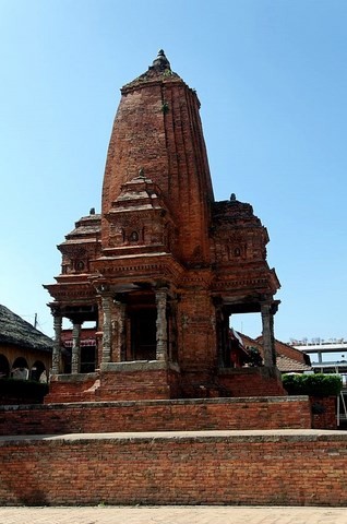
[[[259,505],[107,505],[0,508],[11,524],[346,524],[346,508]]]

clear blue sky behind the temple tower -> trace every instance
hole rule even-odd
[[[0,0],[0,302],[52,334],[56,246],[100,211],[119,88],[164,48],[202,103],[216,200],[267,227],[276,337],[347,338],[346,27],[345,0]]]

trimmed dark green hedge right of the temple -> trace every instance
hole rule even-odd
[[[289,395],[338,395],[343,381],[338,374],[284,374],[283,385]]]

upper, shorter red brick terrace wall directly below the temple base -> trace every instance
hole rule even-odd
[[[0,434],[311,428],[308,397],[0,406]]]

